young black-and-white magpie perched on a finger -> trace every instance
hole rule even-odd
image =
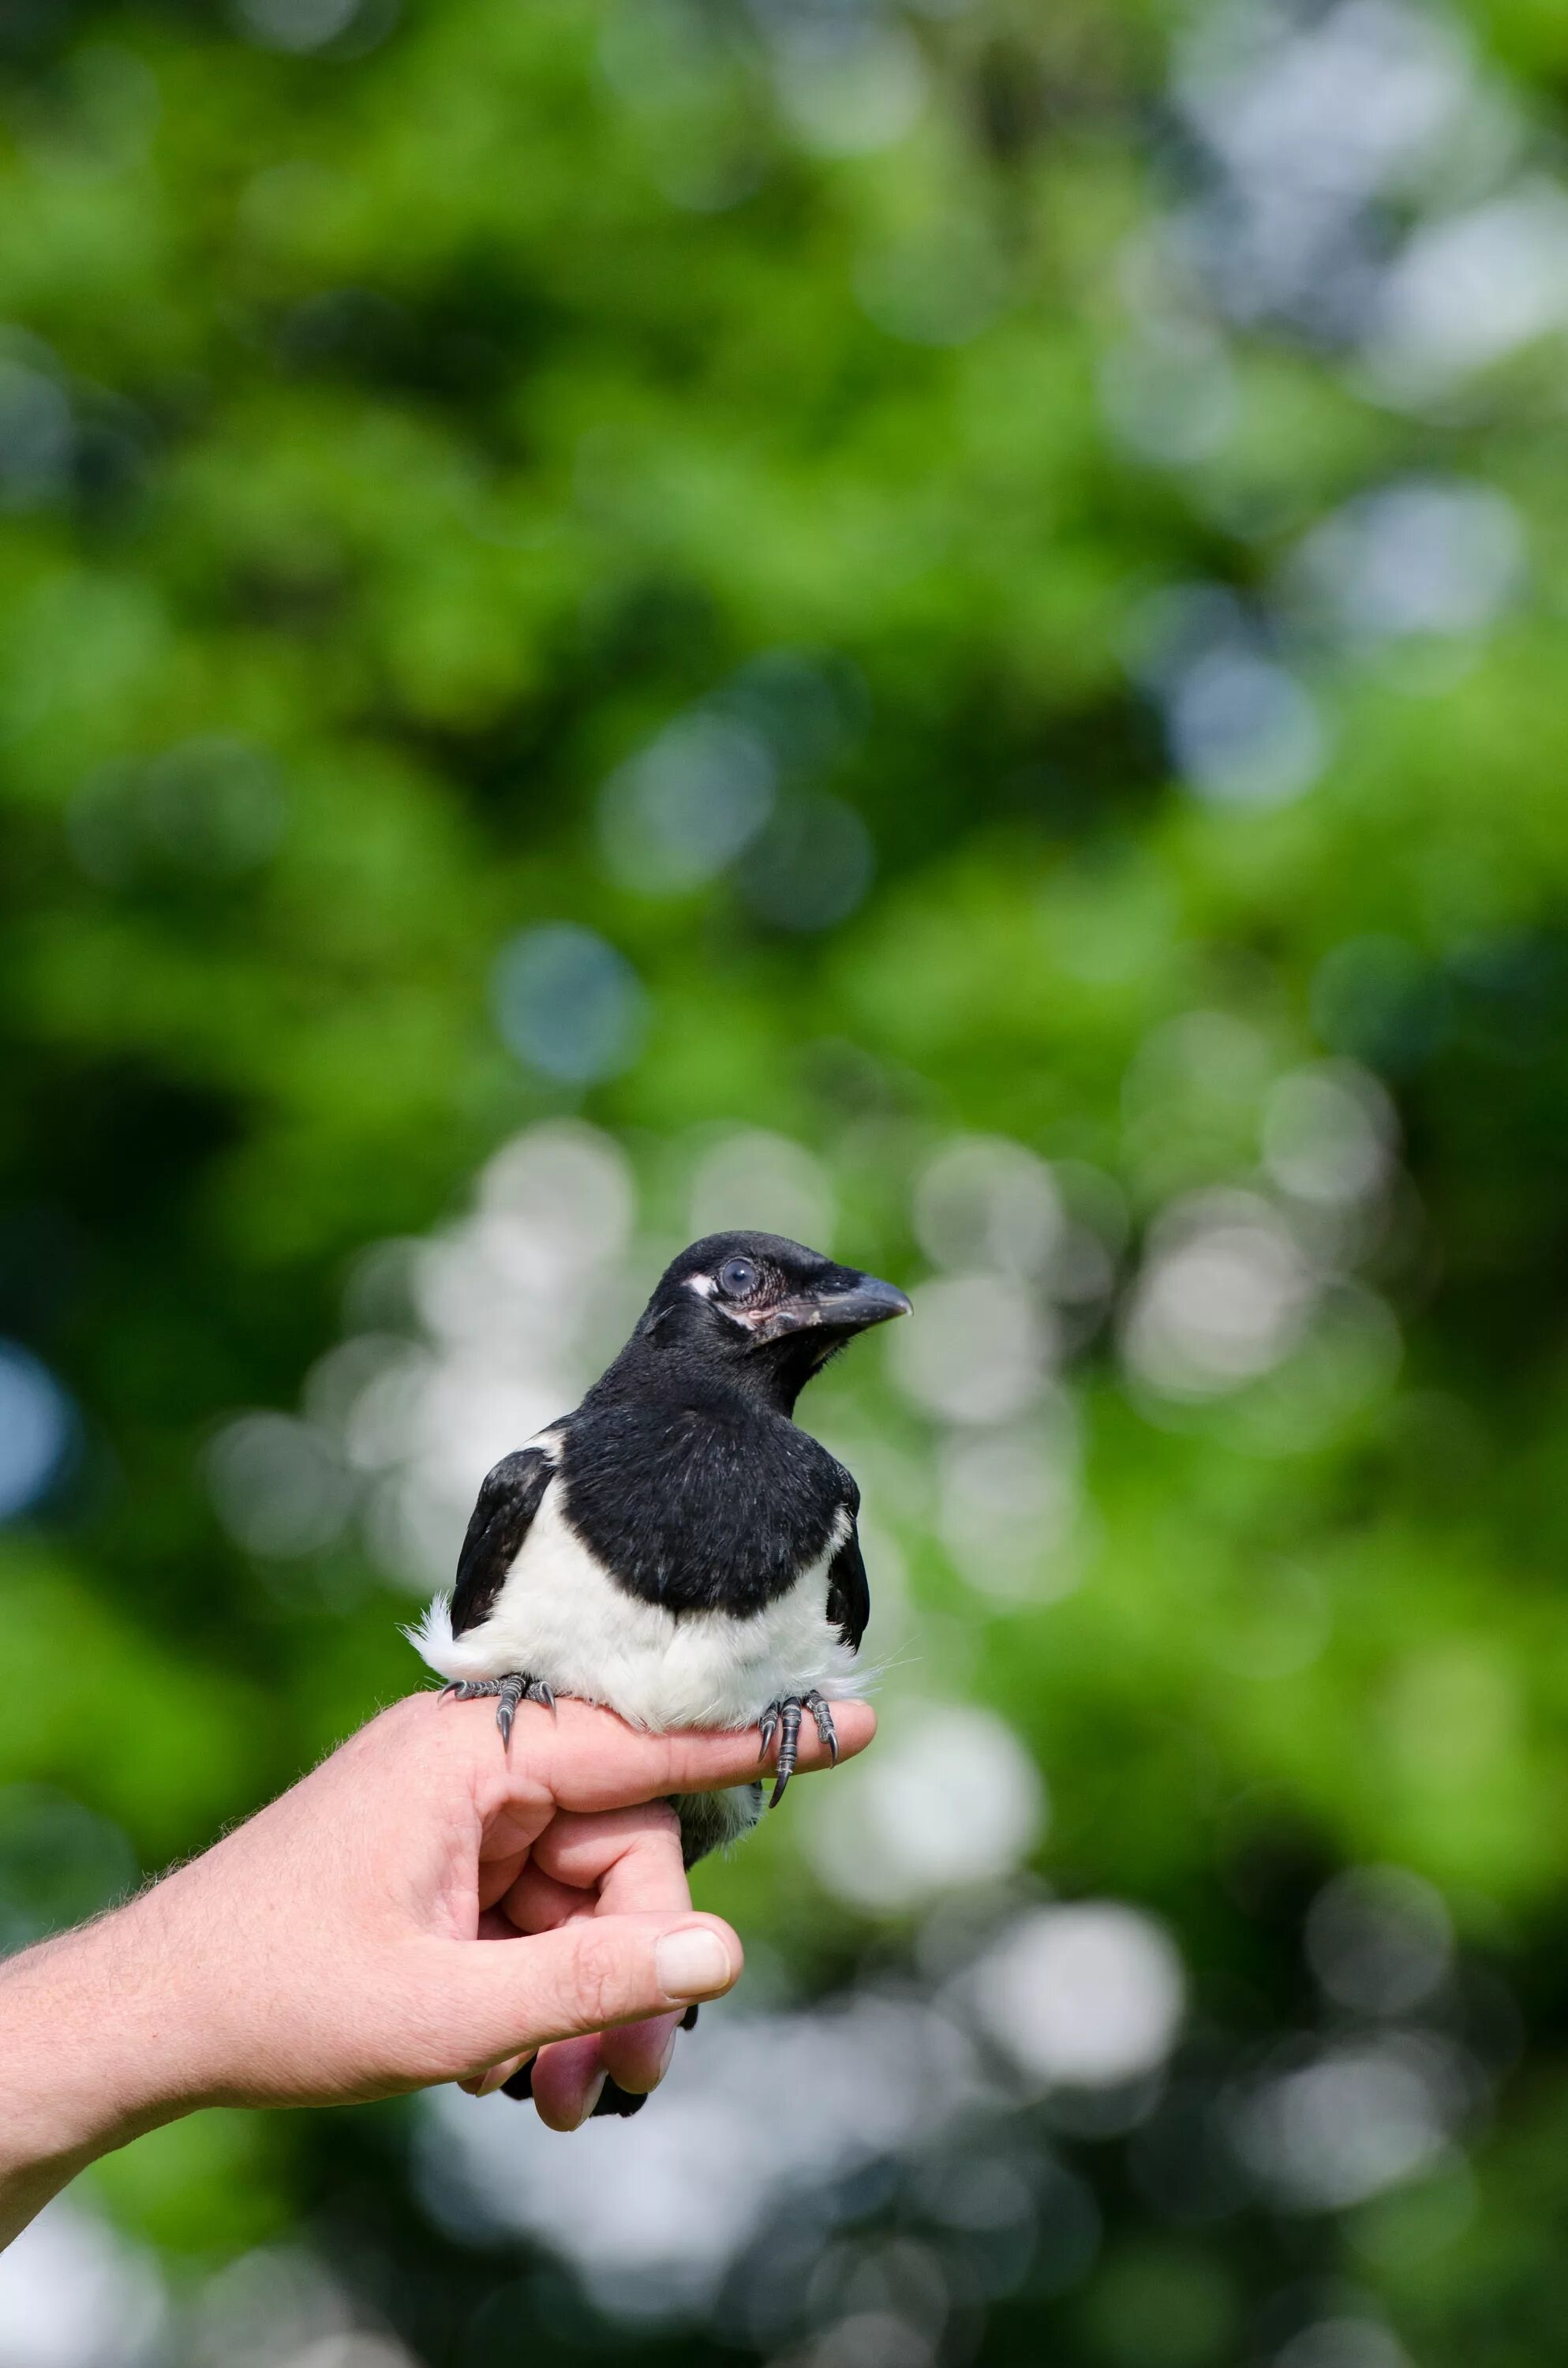
[[[902,1291],[779,1234],[708,1234],[666,1269],[632,1338],[576,1414],[486,1478],[457,1561],[412,1643],[448,1691],[516,1705],[573,1693],[632,1726],[760,1726],[775,1807],[801,1719],[836,1752],[872,1598],[860,1489],[791,1421],[857,1331]],[[675,1802],[685,1861],[763,1814],[763,1785]],[[507,2081],[528,2093],[528,2070]],[[599,2112],[635,2112],[606,2081]]]

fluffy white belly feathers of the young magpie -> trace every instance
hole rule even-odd
[[[452,1636],[450,1601],[436,1596],[410,1636],[445,1679],[526,1669],[632,1726],[751,1726],[782,1695],[855,1691],[855,1653],[827,1617],[827,1568],[848,1518],[838,1516],[822,1558],[760,1613],[677,1615],[611,1579],[568,1525],[557,1478],[490,1617]]]

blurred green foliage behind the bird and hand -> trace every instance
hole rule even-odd
[[[1220,322],[1225,429],[1163,455],[1118,433],[1125,256],[1203,170],[1170,104],[1191,26],[1153,5],[910,17],[891,31],[924,104],[860,149],[801,130],[772,19],[718,0],[417,0],[396,24],[367,0],[298,54],[268,36],[284,21],[0,12],[0,365],[73,417],[69,464],[17,462],[0,535],[0,1288],[2,1328],[81,1416],[69,1471],[0,1542],[7,1830],[64,1800],[102,1821],[81,1828],[102,1883],[114,1835],[156,1868],[412,1681],[407,1591],[353,1539],[282,1575],[246,1556],[201,1459],[237,1409],[296,1407],[358,1253],[464,1208],[516,1130],[583,1113],[618,1134],[658,1238],[692,1130],[786,1134],[834,1177],[838,1246],[917,1281],[910,1179],[943,1134],[1092,1163],[1137,1243],[1172,1196],[1255,1182],[1277,1077],[1355,1058],[1395,1099],[1407,1170],[1367,1253],[1397,1376],[1331,1390],[1322,1421],[1293,1369],[1274,1399],[1172,1411],[1101,1324],[1073,1362],[1092,1544],[1054,1601],[985,1598],[919,1504],[876,1511],[910,1558],[919,1684],[1028,1738],[1054,1800],[1040,1875],[1165,1918],[1210,2055],[1312,2027],[1305,1906],[1381,1861],[1445,1894],[1516,2041],[1469,2171],[1447,2157],[1360,2212],[1253,2200],[1191,2226],[1120,2141],[1085,2141],[1097,2264],[1068,2292],[1021,2264],[964,2344],[1265,2359],[1270,2297],[1345,2278],[1433,2368],[1551,2359],[1551,324],[1393,400],[1345,339]],[[1466,33],[1547,168],[1561,14],[1471,0]],[[1322,519],[1409,474],[1506,495],[1511,599],[1473,632],[1307,635],[1319,777],[1274,803],[1184,784],[1127,658],[1139,601],[1203,580],[1262,611]],[[637,893],[597,822],[616,765],[775,649],[857,687],[812,796],[862,817],[876,869],[812,931],[763,919],[744,881]],[[587,1087],[495,1025],[502,947],[557,921],[647,990],[637,1056]],[[1194,1011],[1241,1023],[1213,1040],[1241,1051],[1165,1075],[1149,1047]],[[831,1392],[824,1421],[921,1452],[872,1352]],[[1241,1677],[1229,1641],[1267,1632],[1279,1565],[1326,1606],[1322,1648]],[[808,1989],[898,1956],[907,1925],[834,1904],[791,1847],[765,1835],[706,1897]],[[62,1911],[92,1904],[99,1859]],[[178,2292],[301,2238],[431,2363],[675,2342],[550,2316],[542,2257],[429,2226],[410,2129],[400,2108],[204,2117],[107,2164],[99,2198]],[[737,2340],[677,2337],[708,2347]]]

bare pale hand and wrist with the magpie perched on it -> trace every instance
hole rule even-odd
[[[865,1750],[869,1707],[834,1714],[841,1757]],[[201,2105],[486,2093],[535,2058],[533,2110],[568,2131],[606,2072],[658,2086],[687,2006],[741,1975],[666,1795],[756,1774],[756,1729],[647,1736],[564,1700],[502,1750],[488,1703],[384,1710],[199,1859],[0,1965],[0,2245]]]

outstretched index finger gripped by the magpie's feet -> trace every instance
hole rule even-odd
[[[853,1759],[876,1733],[869,1703],[834,1703],[838,1757]],[[500,1740],[500,1738],[497,1738]],[[815,1726],[801,1738],[801,1771],[831,1767],[831,1752]],[[564,1809],[604,1812],[628,1802],[663,1800],[670,1793],[718,1793],[725,1785],[753,1783],[758,1771],[758,1731],[701,1733],[682,1729],[649,1736],[628,1726],[611,1710],[592,1703],[557,1703],[554,1719],[519,1722],[512,1757],[493,1755],[502,1800],[538,1800],[540,1788]]]

